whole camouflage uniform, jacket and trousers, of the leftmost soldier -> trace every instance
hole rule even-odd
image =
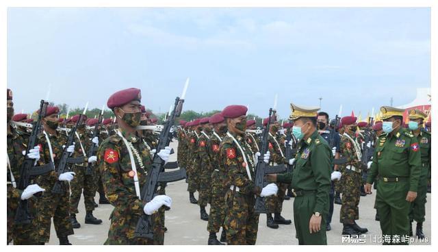
[[[10,127],[8,125],[8,127]],[[27,148],[27,141],[28,135],[21,132],[16,131],[13,127],[11,127],[11,133],[8,133],[7,136],[7,151],[8,151],[8,158],[10,161],[10,168],[12,171],[12,175],[14,176],[14,181],[16,184],[18,184],[18,181],[20,181],[20,172],[21,172],[21,165],[23,164],[25,160],[25,156],[22,154],[23,151],[26,151]],[[14,188],[12,185],[12,180],[10,176],[10,171],[8,168],[7,178],[8,178],[8,185],[7,185],[7,242],[11,242],[14,240],[14,245],[21,245],[21,244],[38,244],[38,232],[37,232],[37,221],[36,218],[33,218],[31,220],[31,223],[29,224],[17,224],[14,223],[15,215],[16,215],[16,209],[18,207],[18,203],[21,200],[21,194],[23,193],[22,190],[19,190],[18,188]],[[28,202],[28,209],[31,216],[36,217],[38,215],[38,212],[36,211],[35,205],[36,198],[31,197]]]

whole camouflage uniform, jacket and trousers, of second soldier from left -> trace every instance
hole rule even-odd
[[[57,134],[51,135],[47,133],[53,151],[53,161],[55,168],[57,168],[62,152],[63,145],[67,142],[67,136],[58,131]],[[44,134],[38,136],[40,145],[40,163],[47,164],[51,161],[49,145]],[[51,218],[53,217],[53,224],[57,237],[70,236],[74,234],[73,227],[70,222],[70,188],[67,181],[60,181],[62,184],[62,193],[52,193],[52,188],[58,181],[58,175],[55,171],[49,175],[40,176],[37,179],[38,185],[45,189],[42,197],[38,199],[38,234],[40,242],[49,242]]]

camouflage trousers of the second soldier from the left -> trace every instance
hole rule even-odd
[[[38,199],[38,235],[40,242],[49,242],[51,218],[55,225],[57,237],[75,234],[70,222],[70,189],[68,183],[63,183],[62,194],[53,194],[51,188]]]

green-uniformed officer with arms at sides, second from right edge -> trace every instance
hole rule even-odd
[[[372,161],[368,162],[365,192],[371,192],[379,176],[376,209],[380,216],[383,236],[390,236],[389,244],[407,244],[394,237],[409,235],[409,210],[417,197],[421,173],[420,145],[417,138],[402,127],[404,110],[383,106],[381,108],[383,131],[377,141]]]

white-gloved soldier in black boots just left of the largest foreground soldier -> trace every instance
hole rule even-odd
[[[93,121],[90,119],[89,121]],[[71,118],[73,123],[79,121],[79,114]],[[82,121],[81,125],[77,126],[75,132],[75,153],[73,157],[83,157],[83,162],[80,164],[73,164],[72,171],[76,173],[75,179],[70,182],[70,221],[73,228],[81,227],[81,224],[77,222],[76,214],[79,213],[77,206],[79,205],[79,199],[81,199],[81,194],[83,194],[83,202],[85,204],[86,216],[85,223],[98,225],[102,223],[102,220],[93,216],[94,211],[94,194],[96,194],[94,186],[94,175],[93,173],[87,174],[86,169],[88,163],[96,162],[96,156],[92,155],[87,157],[88,149],[90,149],[91,144],[99,145],[99,138],[94,138],[90,140],[90,134],[86,132],[86,123]]]

